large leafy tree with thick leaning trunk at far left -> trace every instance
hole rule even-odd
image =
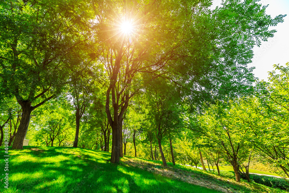
[[[85,1],[1,4],[0,89],[14,95],[22,108],[13,149],[23,148],[31,112],[58,95],[66,83],[68,54],[89,36],[88,7]]]

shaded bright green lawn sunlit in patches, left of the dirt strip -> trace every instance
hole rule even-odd
[[[1,148],[0,179],[5,174],[3,155]],[[218,192],[122,162],[112,164],[106,161],[108,152],[24,146],[23,150],[9,150],[9,155],[9,188],[1,181],[0,192]]]

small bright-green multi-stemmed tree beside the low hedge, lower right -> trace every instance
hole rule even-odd
[[[210,107],[205,115],[199,116],[198,123],[192,129],[201,132],[208,141],[213,141],[215,147],[220,147],[219,150],[233,166],[236,181],[240,181],[240,173],[242,173],[250,182],[249,163],[252,154],[253,131],[240,119],[242,116],[240,104],[233,103],[225,109],[218,105]],[[246,172],[243,172],[242,163],[245,160],[248,162],[247,165],[243,165],[246,169]]]

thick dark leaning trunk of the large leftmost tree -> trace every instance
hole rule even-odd
[[[31,102],[18,101],[18,103],[22,107],[22,114],[21,114],[21,121],[12,145],[12,149],[23,149],[23,141],[29,124],[30,114],[32,112]]]

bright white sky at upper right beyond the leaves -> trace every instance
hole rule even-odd
[[[221,3],[221,0],[213,0],[213,6]],[[269,30],[277,30],[273,38],[268,38],[267,42],[262,42],[260,47],[253,49],[254,57],[248,67],[255,67],[253,73],[259,80],[268,81],[268,71],[275,70],[273,65],[285,66],[289,62],[289,0],[261,0],[259,3],[268,5],[266,14],[271,18],[279,14],[287,14],[283,23],[269,27]]]

